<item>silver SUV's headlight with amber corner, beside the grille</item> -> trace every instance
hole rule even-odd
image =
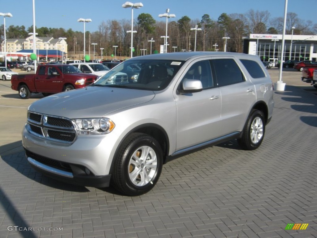
[[[103,135],[110,133],[115,124],[108,118],[74,119],[78,135]]]

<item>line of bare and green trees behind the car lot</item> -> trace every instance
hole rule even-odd
[[[251,33],[258,34],[281,34],[283,28],[283,17],[270,18],[268,11],[249,10],[245,14],[221,14],[217,20],[212,20],[210,15],[204,14],[201,19],[191,19],[188,16],[181,17],[178,21],[168,20],[168,50],[188,51],[194,50],[195,31],[191,30],[195,25],[202,30],[197,31],[197,51],[223,50],[223,37],[230,37],[227,40],[227,51],[242,52],[242,38]],[[317,24],[312,21],[304,21],[298,18],[296,13],[289,12],[287,15],[286,34],[291,34],[291,28],[295,27],[294,35],[315,35]],[[141,55],[141,49],[146,49],[150,54],[149,40],[153,38],[152,53],[160,49],[164,44],[166,21],[155,21],[150,14],[142,13],[134,20],[133,46],[135,55]],[[3,40],[3,26],[0,27],[0,38]],[[111,55],[114,52],[113,45],[118,45],[117,56],[129,56],[131,33],[131,21],[126,19],[108,20],[101,22],[95,32],[86,32],[86,51],[91,43],[97,43],[96,54],[100,54],[100,48],[104,48],[104,55]],[[7,38],[27,38],[28,33],[33,32],[33,26],[27,30],[25,26],[9,26],[6,31]],[[37,28],[38,36],[52,36],[54,38],[66,37],[68,51],[75,53],[83,50],[83,32],[65,30],[63,28]],[[90,43],[90,44],[89,44]],[[92,48],[91,48],[92,49]]]

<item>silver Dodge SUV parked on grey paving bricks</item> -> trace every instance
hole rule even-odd
[[[29,163],[48,176],[140,195],[181,155],[231,139],[258,148],[273,107],[272,81],[257,56],[139,56],[86,88],[32,103],[23,146]]]

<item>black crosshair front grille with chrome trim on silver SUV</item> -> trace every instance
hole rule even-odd
[[[70,119],[34,112],[28,115],[27,129],[31,134],[55,142],[69,144],[75,141],[77,133]]]

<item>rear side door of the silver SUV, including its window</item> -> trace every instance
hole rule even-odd
[[[220,89],[221,135],[240,132],[256,102],[255,86],[233,57],[214,58],[211,65]]]

